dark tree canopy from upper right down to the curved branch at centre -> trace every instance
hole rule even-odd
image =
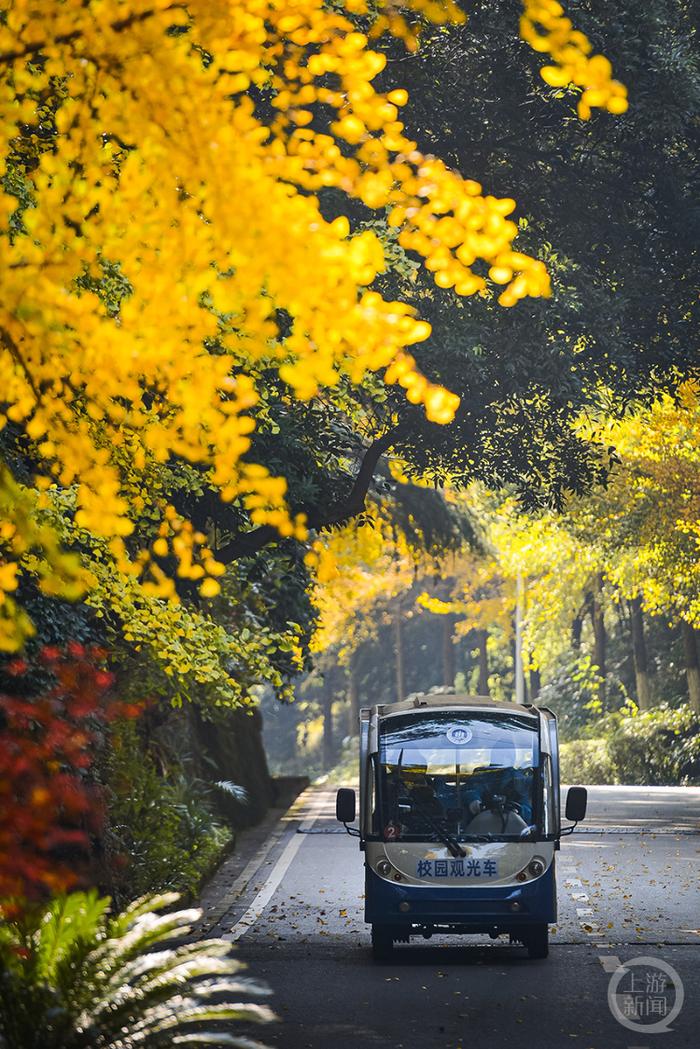
[[[577,92],[548,87],[537,57],[514,36],[518,12],[516,0],[470,3],[466,26],[426,29],[417,53],[391,45],[381,79],[408,88],[405,123],[421,148],[486,191],[516,197],[522,249],[547,262],[553,298],[507,309],[442,292],[384,227],[381,290],[430,321],[417,358],[462,403],[454,422],[439,427],[400,387],[348,389],[344,414],[322,401],[292,412],[278,388],[269,402],[274,426],[261,427],[254,450],[284,463],[295,509],[317,527],[357,512],[348,499],[365,451],[378,462],[378,441],[437,483],[480,478],[514,487],[527,505],[560,505],[611,467],[603,445],[576,435],[575,420],[624,412],[697,373],[693,9],[681,0],[571,5],[631,88],[625,114],[586,123]],[[341,202],[330,193],[324,205],[333,215]],[[361,205],[354,219],[382,224]]]

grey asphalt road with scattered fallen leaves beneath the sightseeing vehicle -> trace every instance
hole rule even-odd
[[[307,792],[254,844],[205,903],[210,930],[234,940],[273,988],[280,1022],[250,1031],[270,1046],[700,1045],[700,789],[590,788],[586,823],[561,840],[559,919],[545,961],[505,938],[445,937],[374,962],[362,856],[335,822],[330,790]],[[648,961],[629,964],[638,958]],[[632,1026],[613,1014],[611,980],[612,1006]]]

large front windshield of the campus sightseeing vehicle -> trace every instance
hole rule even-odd
[[[519,840],[536,834],[537,720],[454,710],[382,723],[378,828],[385,840]]]

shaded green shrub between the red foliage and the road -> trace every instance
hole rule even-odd
[[[194,894],[233,834],[216,818],[211,788],[173,758],[161,772],[124,723],[108,758],[107,878],[119,899],[146,892]]]

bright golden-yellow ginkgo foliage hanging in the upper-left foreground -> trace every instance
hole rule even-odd
[[[158,465],[194,465],[251,526],[305,538],[283,476],[247,457],[267,369],[292,404],[379,372],[450,422],[459,399],[410,352],[429,325],[372,287],[380,241],[326,220],[319,194],[387,210],[440,287],[495,286],[506,307],[550,294],[513,245],[515,201],[423,153],[401,85],[374,86],[370,38],[415,46],[417,16],[464,21],[452,0],[0,6],[0,427],[30,464],[0,471],[2,649],[31,630],[22,575],[68,597],[97,585],[43,536],[57,513],[146,598],[177,601],[172,563],[215,596],[225,566],[149,488]],[[582,117],[623,110],[558,3],[526,0],[521,31],[549,83],[581,88]]]

